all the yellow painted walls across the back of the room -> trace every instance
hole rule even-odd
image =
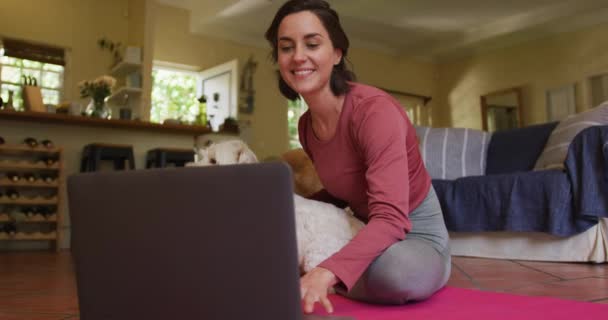
[[[105,36],[144,46],[143,33],[150,33],[144,30],[145,2],[2,0],[0,35],[67,48],[70,63],[64,100],[76,100],[77,83],[107,73],[111,64],[110,54],[97,47],[97,39]],[[241,118],[251,122],[252,148],[260,158],[285,151],[285,100],[276,89],[268,48],[192,35],[185,10],[159,5],[155,12],[150,50],[154,59],[204,69],[234,58],[242,64],[254,56],[258,62],[256,108]],[[433,110],[434,126],[480,128],[479,96],[514,86],[524,88],[523,121],[533,124],[546,120],[549,88],[576,83],[577,110],[589,107],[586,78],[608,70],[607,30],[603,24],[441,64],[358,48],[351,48],[350,60],[361,82],[433,96],[427,109]]]

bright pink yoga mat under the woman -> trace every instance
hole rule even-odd
[[[446,287],[430,299],[403,306],[378,306],[332,295],[334,315],[357,320],[526,320],[608,319],[608,304],[529,297]],[[323,308],[315,306],[316,314]]]

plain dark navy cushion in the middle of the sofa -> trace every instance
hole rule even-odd
[[[530,171],[557,122],[497,131],[488,146],[486,174]]]

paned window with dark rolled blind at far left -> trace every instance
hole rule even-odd
[[[21,88],[26,76],[36,79],[45,104],[59,104],[63,95],[64,51],[54,47],[4,39],[0,45],[0,97],[23,110]]]

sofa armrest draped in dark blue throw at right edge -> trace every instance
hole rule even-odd
[[[568,148],[564,165],[576,211],[608,217],[608,126],[579,132]]]

